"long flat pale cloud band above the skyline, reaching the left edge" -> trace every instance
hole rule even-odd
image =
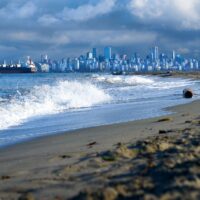
[[[84,37],[83,37],[84,35]],[[94,46],[127,46],[135,44],[148,44],[156,41],[157,34],[142,31],[57,31],[51,35],[43,35],[32,31],[16,31],[5,34],[0,33],[1,40],[10,40],[20,43],[40,43],[47,45],[91,44]]]

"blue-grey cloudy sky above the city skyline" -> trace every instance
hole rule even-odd
[[[1,0],[0,27],[0,59],[154,45],[200,58],[200,0]]]

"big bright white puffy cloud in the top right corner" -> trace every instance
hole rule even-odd
[[[200,29],[199,0],[131,0],[128,6],[132,14],[144,22]]]

